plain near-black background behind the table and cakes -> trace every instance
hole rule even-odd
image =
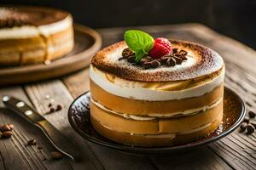
[[[198,22],[256,49],[256,0],[0,0],[62,8],[93,28]]]

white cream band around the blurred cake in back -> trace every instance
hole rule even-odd
[[[15,38],[29,38],[44,36],[49,37],[59,31],[64,31],[73,25],[73,20],[68,15],[64,20],[44,26],[20,26],[13,28],[0,29],[0,40],[15,39]]]

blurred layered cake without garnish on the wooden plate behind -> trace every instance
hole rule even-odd
[[[49,64],[72,49],[71,14],[52,8],[0,8],[0,65]]]

